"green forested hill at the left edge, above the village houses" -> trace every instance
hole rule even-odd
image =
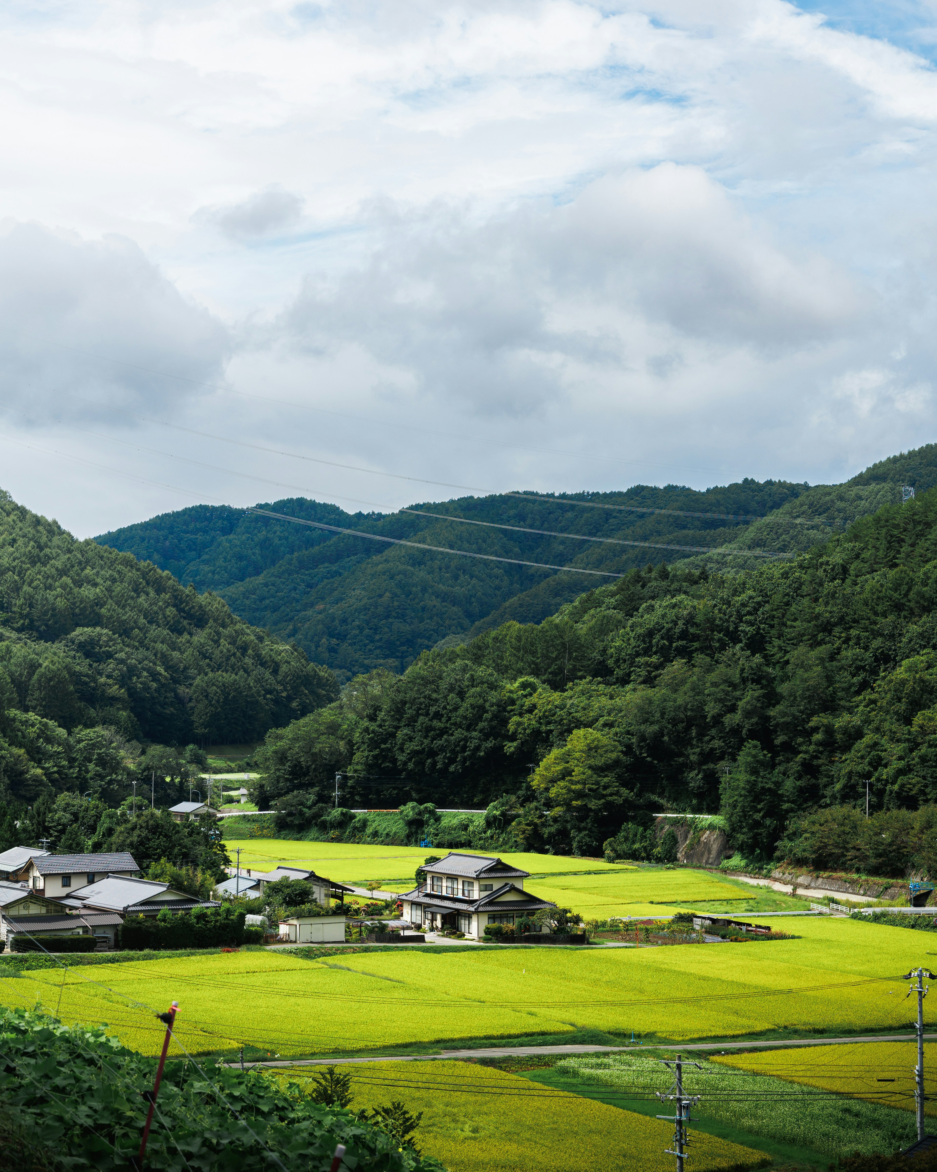
[[[26,742],[55,740],[56,728],[182,745],[249,741],[336,696],[327,668],[217,595],[78,541],[0,492],[0,711],[20,714],[6,741],[33,762]],[[4,745],[0,736],[0,790]]]

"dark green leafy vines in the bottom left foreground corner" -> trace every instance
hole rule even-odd
[[[22,1010],[0,1013],[0,1048],[5,1167],[124,1172],[132,1166],[146,1115],[143,1092],[153,1084],[151,1058],[102,1029],[68,1028]],[[319,1172],[336,1144],[346,1145],[350,1167],[442,1172],[436,1160],[401,1147],[388,1131],[350,1111],[320,1106],[259,1071],[200,1070],[185,1062],[166,1065],[146,1167],[266,1172],[275,1163]]]

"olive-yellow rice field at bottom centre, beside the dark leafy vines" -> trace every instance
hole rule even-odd
[[[518,1075],[464,1062],[374,1062],[351,1071],[353,1110],[398,1099],[423,1112],[419,1149],[451,1172],[649,1172],[672,1166],[664,1154],[672,1126],[604,1103],[539,1086]],[[283,1081],[308,1086],[306,1071]],[[693,1168],[716,1172],[766,1163],[760,1152],[696,1134]]]

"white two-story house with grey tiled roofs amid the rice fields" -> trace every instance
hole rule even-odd
[[[533,918],[556,906],[524,890],[529,871],[491,856],[450,852],[420,870],[424,881],[401,895],[403,915],[417,929],[450,927],[483,936],[488,924],[517,924],[521,917]]]

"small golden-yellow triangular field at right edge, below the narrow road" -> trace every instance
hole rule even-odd
[[[863,1042],[768,1050],[713,1059],[738,1070],[773,1075],[789,1082],[839,1091],[905,1111],[915,1109],[916,1042]],[[924,1043],[925,1115],[937,1115],[937,1045]],[[885,1081],[887,1079],[887,1081]]]

